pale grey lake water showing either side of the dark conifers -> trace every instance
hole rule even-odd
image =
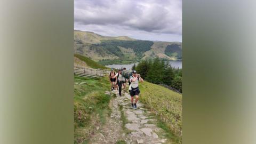
[[[174,68],[182,68],[182,61],[170,61],[169,62],[170,65]],[[137,65],[137,63],[135,63],[135,65]],[[131,64],[126,64],[126,65],[121,65],[121,64],[113,64],[113,65],[106,65],[106,67],[108,68],[115,68],[115,69],[119,69],[119,68],[126,68],[127,70],[132,69],[132,66],[134,65],[134,63]]]

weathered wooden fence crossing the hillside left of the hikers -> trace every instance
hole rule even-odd
[[[74,65],[74,74],[83,76],[83,77],[103,77],[110,73],[108,69],[94,69],[94,68],[86,68],[78,65]]]

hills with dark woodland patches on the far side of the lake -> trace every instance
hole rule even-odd
[[[89,31],[74,31],[74,50],[102,65],[132,63],[141,59],[159,57],[181,60],[180,42],[154,42],[127,36],[101,36]]]

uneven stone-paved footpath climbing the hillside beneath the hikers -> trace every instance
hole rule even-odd
[[[111,116],[100,132],[94,135],[92,143],[116,143],[120,140],[127,144],[170,143],[164,137],[164,131],[157,127],[157,120],[142,103],[138,102],[138,108],[132,109],[128,93],[123,93],[122,97],[119,97],[118,91],[114,90],[113,93],[116,94],[116,98],[111,99],[109,104]],[[119,106],[122,106],[122,109]],[[124,126],[121,110],[126,117]]]

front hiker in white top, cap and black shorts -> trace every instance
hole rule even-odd
[[[139,94],[140,94],[140,90],[139,90],[139,82],[143,82],[144,80],[140,77],[140,74],[137,74],[136,70],[132,71],[132,76],[130,77],[130,87],[129,87],[129,91],[131,94],[131,102],[132,102],[132,108],[136,109],[137,105],[136,103],[139,100]],[[135,95],[135,103],[133,104],[133,98]]]

